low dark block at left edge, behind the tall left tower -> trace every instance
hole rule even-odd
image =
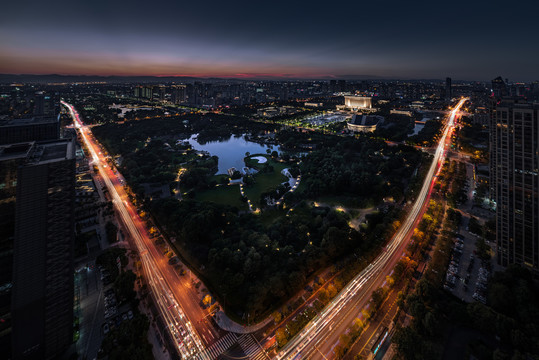
[[[60,137],[60,115],[0,120],[0,144],[53,140]]]

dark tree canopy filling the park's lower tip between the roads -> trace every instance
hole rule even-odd
[[[189,255],[205,264],[202,274],[226,294],[227,307],[251,316],[295,294],[336,258],[368,247],[345,215],[329,208],[300,206],[269,226],[254,215],[191,200],[159,200],[153,211]]]

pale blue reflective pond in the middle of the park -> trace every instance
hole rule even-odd
[[[219,170],[217,174],[226,174],[231,167],[241,169],[245,166],[243,161],[245,153],[266,154],[267,150],[280,152],[279,146],[262,145],[245,139],[245,136],[231,136],[228,140],[208,141],[199,143],[197,135],[189,138],[189,144],[195,150],[207,151],[210,155],[219,157]]]

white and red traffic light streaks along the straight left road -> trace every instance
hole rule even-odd
[[[159,266],[156,264],[156,260],[152,257],[151,252],[147,248],[144,242],[145,230],[143,223],[138,217],[137,212],[128,201],[128,197],[123,192],[122,196],[118,193],[118,189],[114,186],[110,176],[116,177],[114,173],[109,169],[111,174],[107,173],[107,165],[105,159],[98,155],[96,151],[97,144],[95,144],[90,138],[90,130],[85,126],[79,118],[79,114],[74,107],[64,101],[61,101],[70,112],[73,121],[75,122],[75,128],[79,131],[88,151],[93,160],[93,164],[97,166],[102,179],[112,197],[112,201],[116,210],[118,211],[125,227],[129,230],[129,233],[134,240],[140,255],[140,261],[144,269],[144,273],[147,276],[150,289],[153,293],[158,310],[163,317],[164,322],[167,324],[167,330],[170,333],[171,339],[174,342],[179,354],[185,359],[207,359],[204,354],[204,345],[196,330],[194,329],[191,321],[184,314],[181,306],[174,297],[171,286],[165,280],[165,276],[161,273]],[[120,191],[123,190],[123,187]],[[138,225],[138,226],[137,226]]]

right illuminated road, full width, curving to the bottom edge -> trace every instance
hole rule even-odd
[[[460,100],[451,111],[421,191],[406,220],[385,251],[346,285],[333,301],[278,353],[278,359],[331,359],[334,357],[333,348],[337,345],[339,336],[345,333],[354,318],[359,316],[361,310],[367,306],[372,291],[384,284],[386,276],[391,273],[402,257],[414,228],[428,206],[436,176],[442,168],[447,148],[451,143],[455,119],[466,100]]]

